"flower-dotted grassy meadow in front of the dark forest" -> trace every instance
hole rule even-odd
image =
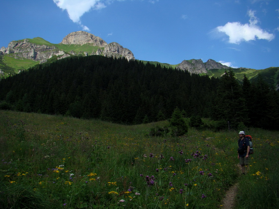
[[[278,132],[250,130],[255,154],[239,177],[236,133],[148,135],[167,124],[0,111],[0,207],[218,208],[236,181],[239,208],[278,207]]]

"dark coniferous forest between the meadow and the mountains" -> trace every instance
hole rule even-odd
[[[71,57],[0,81],[0,108],[69,115],[123,124],[199,116],[232,127],[277,129],[279,94],[261,77],[242,83],[233,70],[221,78],[190,74],[125,58]]]

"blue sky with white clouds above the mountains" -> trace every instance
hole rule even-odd
[[[139,60],[279,67],[278,0],[1,0],[0,11],[0,47],[83,30]]]

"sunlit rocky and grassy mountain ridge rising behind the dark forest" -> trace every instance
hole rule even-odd
[[[0,78],[19,73],[37,64],[51,63],[58,59],[71,56],[102,55],[107,57],[125,57],[127,60],[135,59],[131,50],[124,48],[117,42],[107,43],[102,38],[85,31],[76,31],[65,36],[59,44],[53,44],[41,37],[26,38],[11,41],[7,48],[0,49]],[[144,61],[148,62],[148,61]],[[195,74],[207,74],[219,77],[225,70],[233,69],[237,79],[242,81],[246,74],[249,79],[255,79],[261,73],[269,84],[279,88],[278,67],[270,67],[263,70],[250,68],[231,68],[213,59],[205,63],[201,59],[183,60],[176,65],[157,63],[162,66],[178,68]]]

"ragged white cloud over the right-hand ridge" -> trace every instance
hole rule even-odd
[[[259,20],[255,16],[255,11],[249,10],[248,15],[250,17],[249,23],[228,22],[224,26],[218,26],[217,30],[225,33],[229,37],[229,42],[233,44],[239,44],[241,41],[256,40],[256,38],[268,41],[274,39],[274,34],[268,33],[257,26]]]

